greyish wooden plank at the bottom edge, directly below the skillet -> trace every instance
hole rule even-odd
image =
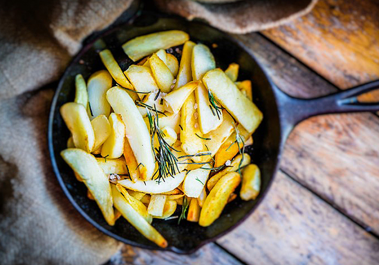
[[[205,245],[197,252],[190,255],[179,255],[168,251],[149,251],[141,248],[134,248],[123,245],[122,249],[116,253],[106,265],[124,264],[149,264],[149,265],[242,265],[233,256],[227,254],[217,245],[211,243]]]

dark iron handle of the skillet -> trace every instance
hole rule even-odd
[[[363,103],[357,99],[359,95],[379,89],[379,80],[314,99],[294,98],[277,86],[273,87],[281,121],[282,145],[294,126],[309,117],[321,114],[379,111],[379,102]]]

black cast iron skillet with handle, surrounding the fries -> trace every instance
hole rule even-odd
[[[97,229],[132,246],[159,249],[123,218],[120,218],[113,227],[107,225],[96,203],[87,198],[85,185],[76,180],[72,170],[59,154],[66,148],[69,137],[69,131],[59,114],[59,108],[64,103],[74,100],[76,74],[81,73],[87,79],[93,72],[104,69],[97,54],[98,50],[105,47],[110,49],[122,70],[126,70],[132,61],[122,51],[121,44],[136,36],[169,29],[184,30],[189,33],[192,40],[210,47],[216,58],[217,67],[226,69],[229,63],[237,62],[240,65],[239,80],[252,80],[254,102],[264,115],[262,124],[254,133],[252,148],[247,148],[252,161],[258,164],[262,172],[261,193],[256,200],[245,202],[238,197],[229,203],[220,218],[207,228],[187,221],[182,221],[178,225],[177,219],[154,220],[154,227],[169,243],[167,250],[188,254],[231,231],[256,209],[273,182],[281,149],[294,125],[317,114],[379,111],[379,104],[358,104],[355,99],[357,94],[378,88],[379,82],[317,99],[296,99],[281,92],[268,79],[262,67],[241,43],[203,23],[145,12],[132,23],[102,33],[99,38],[79,52],[59,82],[49,117],[48,144],[55,174],[75,208]],[[212,47],[213,43],[217,44],[217,47]]]

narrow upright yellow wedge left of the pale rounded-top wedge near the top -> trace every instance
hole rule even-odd
[[[176,90],[180,87],[183,87],[187,83],[192,81],[192,72],[191,72],[191,58],[192,58],[192,49],[196,44],[192,41],[186,41],[183,46],[182,58],[180,60],[179,72],[177,76],[177,82],[175,83],[174,89]]]

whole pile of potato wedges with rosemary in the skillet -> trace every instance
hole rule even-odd
[[[61,155],[109,225],[123,216],[164,248],[154,218],[206,227],[241,181],[242,200],[258,196],[260,170],[244,150],[263,115],[251,81],[237,82],[239,65],[216,68],[209,48],[186,32],[148,34],[122,48],[135,62],[126,71],[105,49],[106,70],[87,83],[76,76],[75,100],[60,109],[71,132]]]

